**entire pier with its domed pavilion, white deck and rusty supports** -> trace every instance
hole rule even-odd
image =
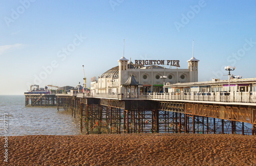
[[[256,78],[231,76],[235,67],[228,66],[228,80],[198,82],[199,60],[194,54],[187,69],[178,69],[178,60],[172,60],[176,69],[171,68],[174,64],[170,68],[156,65],[164,60],[153,61],[135,60],[134,64],[123,56],[118,66],[91,78],[90,90],[79,82],[76,88],[49,94],[48,87],[32,85],[32,93],[45,94],[25,93],[26,105],[56,102],[57,110],[71,110],[74,118],[79,115],[80,131],[86,134],[255,135]],[[86,87],[85,76],[82,84]]]

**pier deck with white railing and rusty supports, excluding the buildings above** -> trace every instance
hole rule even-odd
[[[245,93],[56,94],[57,109],[80,116],[80,131],[255,135],[256,97]]]

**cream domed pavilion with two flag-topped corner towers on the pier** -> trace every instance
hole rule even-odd
[[[118,60],[118,66],[97,78],[91,78],[91,93],[126,93],[122,85],[131,75],[142,85],[139,87],[140,93],[163,92],[163,85],[166,84],[197,82],[199,60],[193,55],[187,62],[187,69],[179,69],[178,60],[135,60],[133,63],[123,56]],[[170,68],[165,68],[164,65]],[[173,66],[176,68],[172,68]],[[161,76],[166,78],[161,79]]]

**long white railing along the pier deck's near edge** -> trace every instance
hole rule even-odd
[[[114,99],[164,99],[164,100],[193,100],[217,102],[248,102],[256,103],[256,92],[180,92],[180,93],[96,93],[78,94],[79,97],[100,97]]]

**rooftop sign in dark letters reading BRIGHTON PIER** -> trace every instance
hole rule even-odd
[[[135,60],[135,66],[143,65],[165,65],[164,60]],[[180,67],[179,60],[167,60],[166,65]]]

